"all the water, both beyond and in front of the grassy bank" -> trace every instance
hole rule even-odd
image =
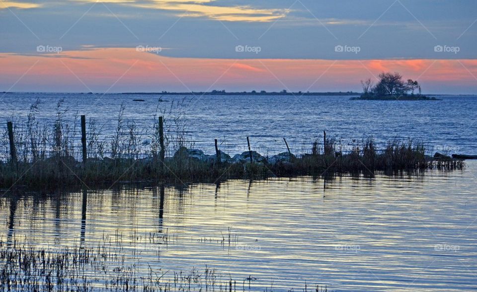
[[[192,95],[164,95],[159,102],[159,97],[10,93],[1,96],[0,119],[25,121],[39,98],[37,119],[53,127],[56,103],[64,99],[65,121],[85,114],[102,127],[104,139],[113,135],[124,104],[125,123],[134,121],[142,140],[150,139],[154,115],[161,113],[210,153],[214,139],[232,154],[241,152],[247,136],[262,154],[285,151],[283,138],[300,153],[321,141],[325,130],[343,145],[367,136],[380,144],[413,138],[426,143],[430,154],[477,154],[476,96],[427,102]],[[178,126],[174,117],[180,117]],[[27,238],[30,246],[52,252],[95,247],[106,238],[109,251],[123,255],[137,277],[153,271],[173,278],[174,272],[207,266],[246,291],[302,291],[305,283],[336,291],[471,291],[477,283],[476,185],[477,163],[468,161],[462,171],[393,177],[3,194],[0,236],[6,242]],[[160,234],[169,240],[151,242]],[[118,237],[121,243],[115,245]],[[82,273],[95,283],[108,277]],[[250,288],[245,279],[252,279]]]

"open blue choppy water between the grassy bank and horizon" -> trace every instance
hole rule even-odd
[[[215,153],[214,139],[230,154],[247,150],[246,136],[261,154],[286,151],[283,138],[294,153],[310,152],[315,139],[322,141],[323,130],[329,137],[342,139],[346,147],[353,139],[373,136],[378,143],[388,139],[420,139],[428,153],[477,154],[477,96],[439,96],[442,101],[359,101],[349,96],[180,96],[128,94],[0,94],[0,119],[13,116],[26,121],[30,105],[40,98],[38,119],[53,127],[56,103],[64,98],[69,112],[94,118],[103,127],[103,138],[113,136],[120,104],[124,103],[125,123],[135,121],[144,131],[151,131],[153,115],[165,111],[166,120],[180,111],[187,140],[209,154]],[[145,102],[134,102],[144,99]],[[168,114],[174,101],[174,111]],[[170,123],[171,120],[169,119]],[[79,122],[77,124],[77,129]],[[174,130],[174,127],[172,127]],[[79,136],[77,137],[79,139]],[[321,144],[320,144],[321,145]],[[346,150],[346,148],[344,149]]]

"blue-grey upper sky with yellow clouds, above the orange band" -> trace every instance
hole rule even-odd
[[[165,56],[194,58],[237,58],[230,48],[239,44],[261,47],[249,58],[466,59],[477,52],[473,0],[16,1],[39,5],[28,9],[1,1],[4,53],[34,53],[39,42],[64,50],[148,44],[167,48]],[[239,9],[248,13],[237,17]],[[262,19],[264,12],[269,19]],[[361,51],[336,54],[336,45]],[[435,45],[461,50],[435,54]]]

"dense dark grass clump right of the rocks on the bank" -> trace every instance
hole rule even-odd
[[[379,151],[373,138],[353,141],[346,146],[343,146],[341,141],[330,138],[326,140],[323,154],[313,154],[318,152],[315,149],[314,144],[312,154],[296,158],[293,163],[271,165],[269,169],[277,175],[315,175],[326,171],[329,173],[362,172],[374,176],[376,171],[389,173],[399,170],[454,170],[464,167],[462,160],[434,159],[425,155],[424,144],[415,140],[388,141],[384,149]],[[343,149],[348,151],[345,152]]]

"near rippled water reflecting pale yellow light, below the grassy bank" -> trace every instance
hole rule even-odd
[[[340,291],[468,291],[477,279],[476,174],[470,162],[462,172],[423,176],[24,194],[1,199],[0,231],[8,244],[23,238],[48,248],[121,238],[139,272],[207,265],[252,279],[256,291],[299,291],[305,282]]]

